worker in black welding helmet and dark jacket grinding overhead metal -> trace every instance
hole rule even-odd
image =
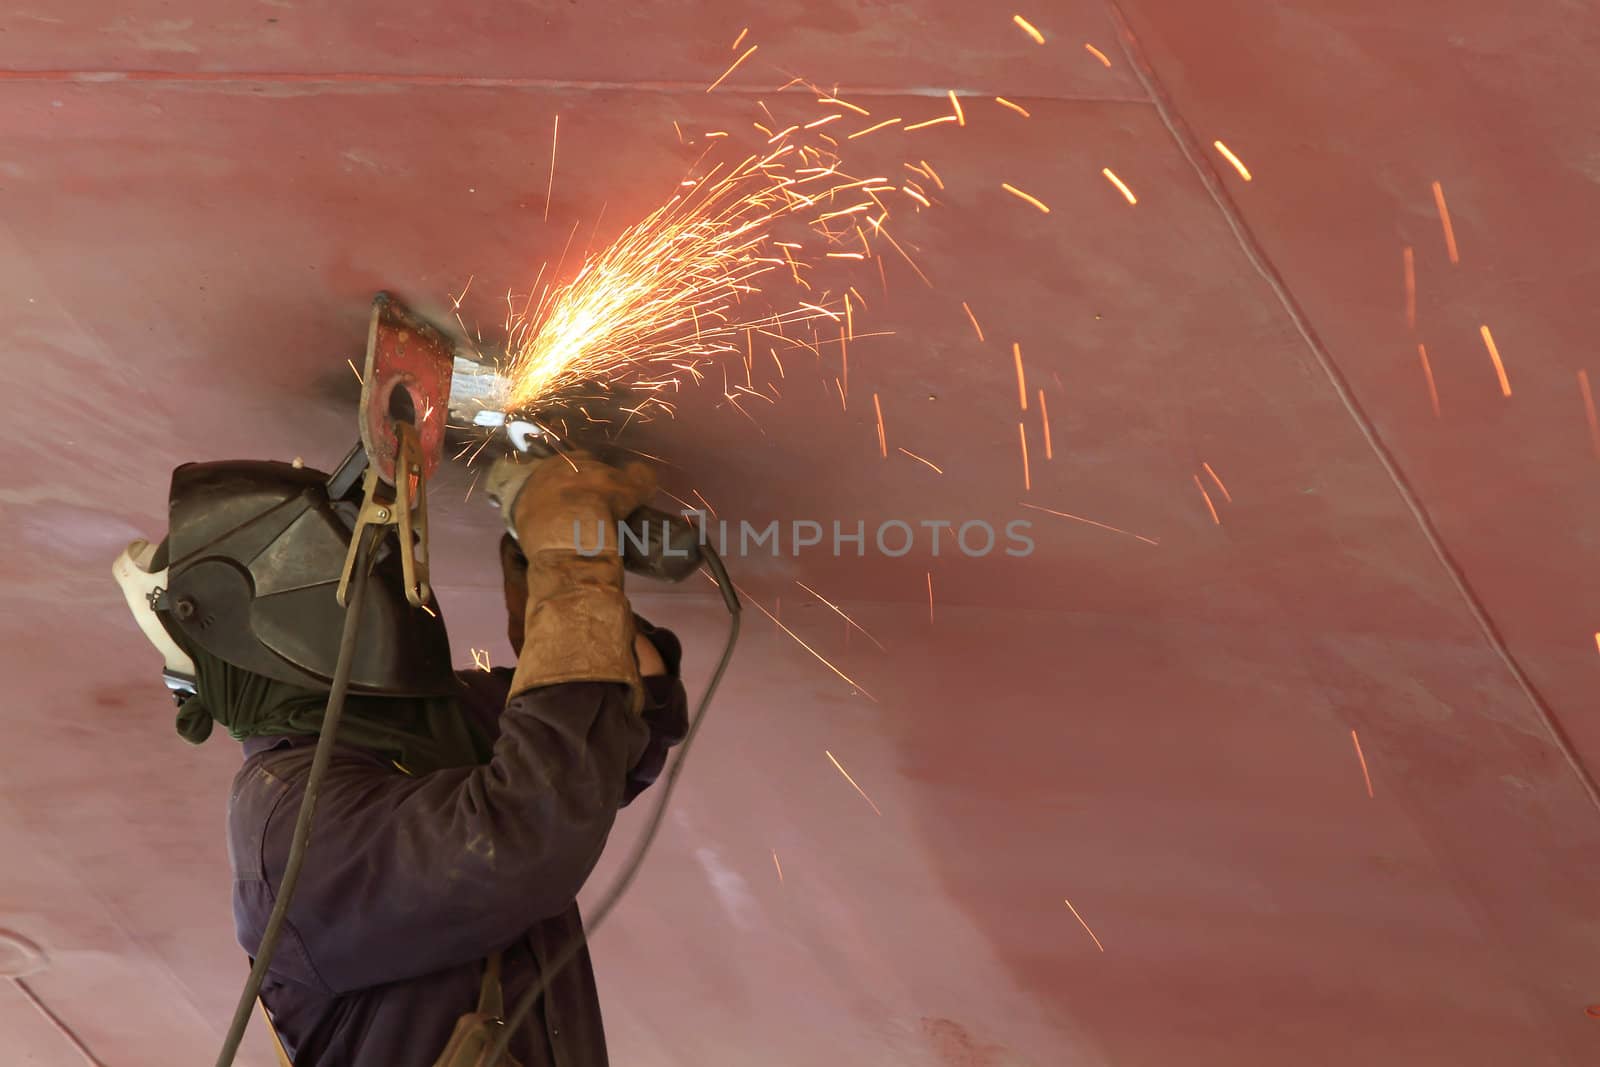
[[[614,536],[597,545],[594,533],[651,496],[650,469],[576,454],[502,467],[498,483],[515,534],[499,553],[514,670],[429,681],[419,672],[443,646],[437,608],[405,605],[392,536],[373,566],[339,744],[261,987],[293,1067],[429,1067],[491,992],[515,1003],[582,937],[574,897],[618,808],[686,733],[678,641],[632,613]],[[134,542],[115,565],[163,653],[179,733],[198,744],[221,723],[243,741],[227,833],[251,957],[336,654],[341,614],[328,605],[352,512],[328,485],[290,464],[187,464],[173,477],[166,541]],[[606,1064],[587,950],[550,977],[510,1056]]]

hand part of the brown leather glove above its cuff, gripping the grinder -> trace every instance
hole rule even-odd
[[[586,555],[616,552],[616,523],[656,491],[656,474],[642,462],[613,467],[589,453],[549,459],[499,459],[485,491],[494,499],[523,555],[579,547]]]

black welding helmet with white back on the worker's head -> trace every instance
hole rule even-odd
[[[138,590],[150,585],[146,605],[178,651],[200,649],[256,675],[328,689],[344,629],[334,592],[360,509],[352,459],[331,478],[269,461],[173,470],[166,539],[138,566],[146,577],[118,574],[134,616]],[[390,528],[366,582],[350,691],[445,694],[453,683],[445,622],[432,595],[426,609],[406,601],[397,549]],[[144,617],[139,624],[152,633]],[[168,686],[181,693],[182,662],[176,667],[168,657]]]

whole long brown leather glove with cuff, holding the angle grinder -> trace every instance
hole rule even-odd
[[[531,464],[499,461],[486,482],[528,560],[510,694],[563,681],[621,681],[634,691],[634,709],[642,707],[616,523],[651,498],[654,472],[570,453]],[[507,608],[514,592],[507,582]]]

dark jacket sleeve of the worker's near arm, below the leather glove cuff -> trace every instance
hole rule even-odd
[[[421,777],[336,752],[272,969],[344,993],[482,958],[571,907],[650,739],[627,704],[611,683],[533,689],[506,705],[490,763]],[[299,752],[261,837],[272,893],[310,771]],[[238,933],[259,945],[261,928]]]

